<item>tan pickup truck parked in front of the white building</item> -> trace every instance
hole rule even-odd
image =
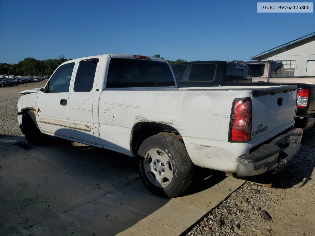
[[[252,74],[252,82],[305,83],[315,84],[315,76],[285,76],[281,61],[247,61]]]

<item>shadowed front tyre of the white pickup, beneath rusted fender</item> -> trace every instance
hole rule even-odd
[[[28,113],[23,113],[22,115],[22,124],[23,124],[23,132],[26,138],[26,141],[31,146],[41,146],[46,143],[47,135],[43,134],[34,121],[32,120],[31,116]]]

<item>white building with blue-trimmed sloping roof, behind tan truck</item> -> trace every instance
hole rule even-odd
[[[250,59],[282,61],[286,76],[315,76],[315,32]]]

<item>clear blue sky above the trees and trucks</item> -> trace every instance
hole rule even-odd
[[[314,32],[314,14],[257,13],[257,1],[0,0],[0,63],[105,53],[248,60]]]

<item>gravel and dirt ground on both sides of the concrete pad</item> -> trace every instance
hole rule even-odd
[[[16,118],[18,93],[45,83],[0,88],[0,138],[22,134]],[[245,182],[186,235],[315,235],[314,138],[315,130],[306,130],[289,166],[277,174],[251,179],[272,183],[271,188]]]

